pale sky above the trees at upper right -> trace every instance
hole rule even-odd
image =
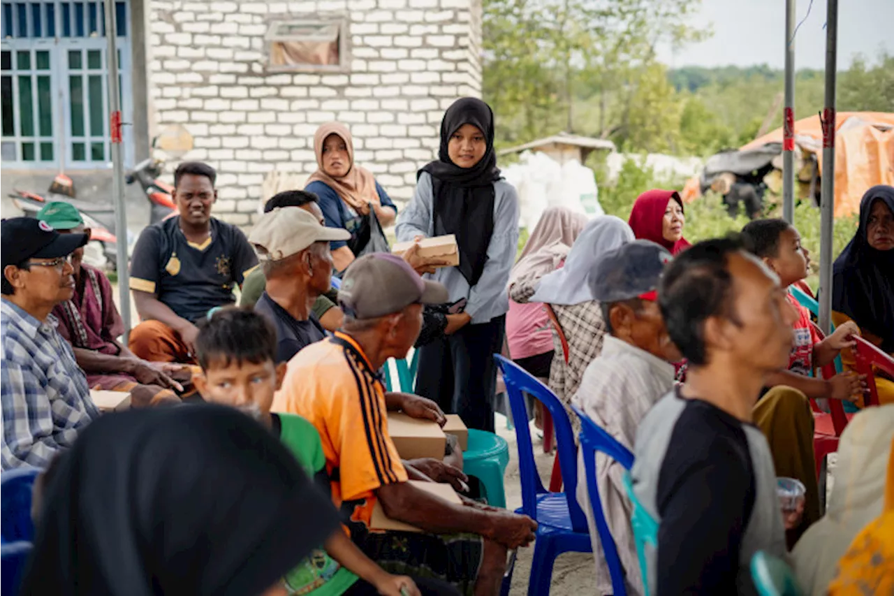
[[[796,1],[796,22],[807,17],[795,37],[796,68],[825,66],[826,1]],[[702,0],[689,24],[713,25],[713,37],[672,51],[662,47],[664,64],[679,66],[785,65],[785,0]],[[845,69],[854,55],[872,59],[881,48],[894,53],[894,0],[839,0],[838,66]]]

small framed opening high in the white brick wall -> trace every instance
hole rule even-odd
[[[348,61],[347,19],[289,19],[270,23],[267,70],[341,72]]]

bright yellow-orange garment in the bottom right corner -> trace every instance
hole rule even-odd
[[[894,447],[888,461],[885,506],[851,542],[829,584],[829,594],[894,594]]]

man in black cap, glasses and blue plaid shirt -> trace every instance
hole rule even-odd
[[[87,240],[37,219],[0,221],[0,471],[46,466],[99,415],[50,314],[72,298],[69,257]]]

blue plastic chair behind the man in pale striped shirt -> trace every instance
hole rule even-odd
[[[590,506],[593,507],[596,532],[599,533],[599,542],[603,545],[605,562],[609,567],[611,589],[615,596],[623,596],[627,593],[627,588],[624,584],[624,567],[620,564],[618,548],[615,546],[614,538],[611,537],[611,531],[609,531],[609,526],[605,522],[605,515],[603,515],[603,502],[599,498],[599,488],[596,486],[596,452],[598,451],[611,457],[611,459],[623,465],[625,470],[633,467],[633,454],[630,453],[627,447],[621,445],[617,439],[599,428],[578,407],[572,405],[571,409],[580,418],[580,448],[583,450],[584,469],[586,470],[586,492],[590,498]],[[562,473],[564,474],[564,470]],[[643,561],[641,560],[640,566],[642,564]],[[645,583],[645,585],[646,595],[648,595],[648,584]]]

